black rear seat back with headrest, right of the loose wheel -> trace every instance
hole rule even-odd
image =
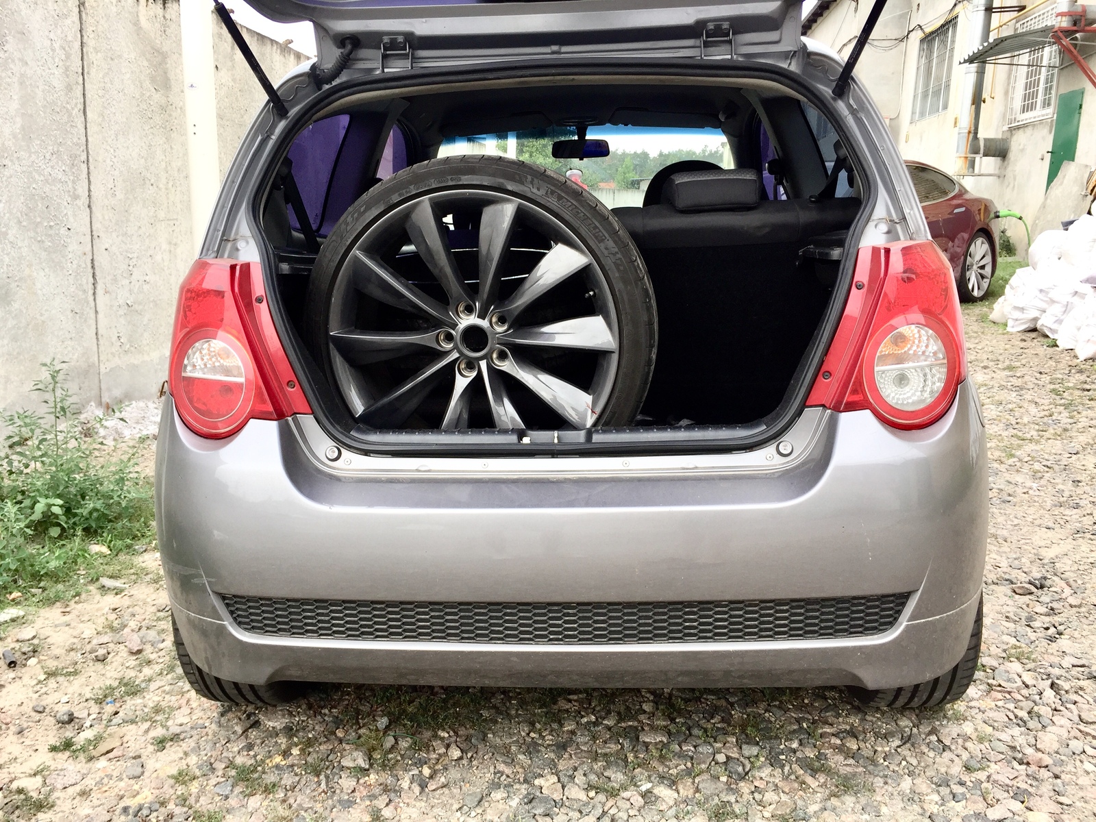
[[[779,406],[830,299],[799,270],[799,250],[847,229],[860,201],[761,199],[752,169],[674,174],[662,201],[613,209],[658,302],[659,352],[642,413],[659,424],[760,420]]]

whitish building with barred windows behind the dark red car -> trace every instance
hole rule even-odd
[[[1003,158],[974,156],[968,163],[963,156],[972,96],[963,93],[971,67],[960,60],[984,42],[977,30],[982,0],[890,0],[855,73],[903,157],[959,176],[971,191],[1030,222],[1062,161],[1096,167],[1096,85],[1050,39],[1050,27],[1059,22],[1053,0],[1008,2],[992,7],[991,47],[981,49],[989,61],[978,132],[983,149],[994,147],[986,147],[985,138],[1007,140]],[[1089,9],[1096,16],[1096,8]],[[807,13],[803,34],[847,57],[870,10],[870,2],[821,0]],[[1096,26],[1096,20],[1087,25]],[[1092,72],[1096,34],[1070,39]],[[1005,227],[1024,253],[1023,228]]]

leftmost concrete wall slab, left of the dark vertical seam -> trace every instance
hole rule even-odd
[[[30,402],[50,357],[68,361],[78,397],[99,396],[79,43],[72,0],[4,0],[0,408]]]

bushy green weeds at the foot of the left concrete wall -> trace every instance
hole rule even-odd
[[[81,571],[93,578],[110,567],[89,553],[89,540],[114,557],[150,538],[152,500],[137,448],[106,449],[84,436],[61,366],[43,367],[33,390],[44,396],[45,413],[0,416],[0,592],[38,587],[50,590],[49,601],[71,596]]]

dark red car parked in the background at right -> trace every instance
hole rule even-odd
[[[997,270],[996,235],[990,226],[997,207],[992,199],[971,194],[939,169],[913,160],[907,160],[905,168],[933,240],[951,263],[959,299],[982,299]]]

